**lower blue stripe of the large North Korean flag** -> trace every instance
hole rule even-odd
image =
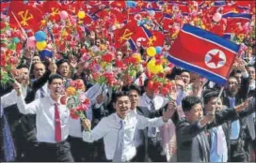
[[[177,60],[177,59],[173,58],[171,55],[168,55],[167,59],[169,62],[173,63],[174,65],[178,65],[179,67],[183,67],[184,69],[187,69],[189,71],[199,73],[201,76],[204,76],[208,80],[214,81],[220,85],[225,84],[225,82],[227,81],[227,79],[221,78],[220,76],[217,76],[216,74],[211,73],[208,70],[204,70],[200,67],[196,67],[196,66],[187,64],[181,60]]]

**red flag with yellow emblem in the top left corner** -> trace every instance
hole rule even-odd
[[[24,5],[22,2],[11,1],[8,9],[9,24],[12,27],[19,27],[12,13],[24,29],[39,30],[39,22],[42,20],[43,15],[40,9]]]

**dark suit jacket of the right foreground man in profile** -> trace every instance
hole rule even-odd
[[[177,156],[178,162],[203,162],[209,161],[210,134],[206,129],[219,126],[226,121],[238,118],[234,110],[224,110],[216,113],[216,120],[207,126],[200,127],[199,122],[192,124],[186,120],[177,124]],[[205,144],[203,143],[204,140]]]

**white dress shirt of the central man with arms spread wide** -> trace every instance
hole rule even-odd
[[[149,119],[130,111],[124,119],[124,145],[121,156],[122,161],[129,161],[136,156],[135,131],[136,128],[144,129],[147,126],[164,125],[162,117]],[[91,131],[83,131],[83,140],[88,142],[104,138],[104,151],[108,160],[113,159],[118,141],[120,117],[113,113],[104,117]]]

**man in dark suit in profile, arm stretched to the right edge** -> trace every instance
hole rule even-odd
[[[251,105],[251,104],[250,104]],[[185,120],[177,125],[178,161],[179,162],[209,162],[210,144],[206,128],[219,126],[227,121],[238,118],[238,111],[248,107],[243,103],[234,110],[207,112],[203,116],[200,98],[186,96],[182,101]],[[255,106],[251,106],[255,107]],[[215,119],[215,121],[213,121]]]

